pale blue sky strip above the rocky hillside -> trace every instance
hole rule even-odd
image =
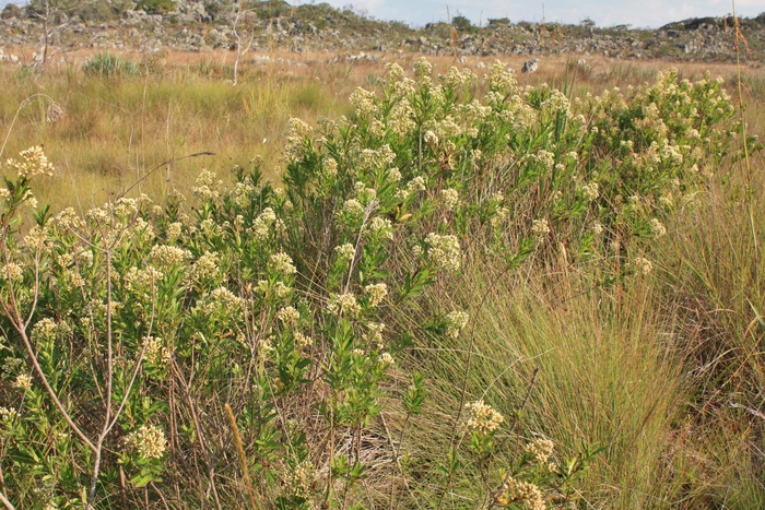
[[[531,21],[579,23],[589,17],[598,26],[629,24],[656,28],[687,17],[722,16],[732,12],[731,0],[287,0],[294,4],[327,3],[354,10],[378,20],[402,21],[413,26],[447,21],[461,14],[474,25],[490,17],[513,22]],[[0,5],[9,0],[0,0]],[[23,3],[21,0],[13,3]],[[765,0],[737,0],[740,16],[765,12]]]

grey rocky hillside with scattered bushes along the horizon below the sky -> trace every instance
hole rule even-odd
[[[473,26],[456,16],[451,24],[413,28],[376,21],[351,9],[327,3],[292,7],[283,0],[255,1],[246,10],[220,0],[35,0],[10,4],[0,20],[0,48],[14,60],[14,47],[189,51],[235,49],[236,33],[254,49],[332,51],[363,59],[368,51],[415,51],[423,55],[602,55],[624,59],[726,61],[735,55],[732,19],[705,17],[672,23],[656,31],[628,26],[513,23],[489,20]],[[751,63],[765,57],[765,13],[741,20],[746,39],[742,57]],[[38,55],[42,55],[38,54]]]

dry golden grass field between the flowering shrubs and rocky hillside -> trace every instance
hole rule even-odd
[[[32,52],[28,50],[26,52]],[[255,155],[266,159],[267,176],[276,178],[280,151],[287,120],[297,117],[315,123],[320,117],[350,115],[348,97],[356,86],[369,86],[384,73],[385,62],[399,62],[405,69],[419,58],[377,54],[379,61],[331,63],[327,54],[248,54],[244,59],[239,86],[231,85],[234,55],[224,52],[163,52],[141,55],[115,52],[133,63],[131,75],[89,75],[82,67],[94,51],[66,54],[42,78],[10,64],[0,67],[0,85],[5,93],[0,109],[0,133],[8,133],[19,106],[22,109],[8,139],[5,154],[15,154],[30,144],[44,144],[57,162],[56,179],[40,189],[47,199],[47,185],[54,188],[56,207],[75,205],[83,210],[103,203],[109,193],[123,190],[163,162],[200,152],[215,156],[185,159],[163,166],[140,187],[152,197],[164,197],[169,189],[190,190],[200,167],[224,177],[235,165],[246,165]],[[492,58],[466,57],[432,59],[436,72],[457,64],[481,75]],[[522,57],[503,61],[516,71]],[[573,93],[600,93],[605,87],[636,86],[656,72],[676,67],[682,78],[698,79],[705,72],[734,82],[732,64],[673,63],[662,61],[619,61],[595,57],[586,72],[567,69],[563,57],[542,59],[536,74],[517,74],[521,85],[567,80]],[[765,70],[749,69],[744,92],[753,108],[765,88]],[[50,100],[61,106],[63,116],[46,121]],[[751,115],[755,132],[763,131],[762,116]],[[63,193],[59,192],[63,191]]]

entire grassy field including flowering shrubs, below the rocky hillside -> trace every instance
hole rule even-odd
[[[765,507],[764,69],[114,55],[0,64],[7,508]]]

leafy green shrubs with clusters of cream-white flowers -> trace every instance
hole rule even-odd
[[[283,189],[256,159],[232,186],[202,171],[191,203],[122,197],[84,215],[44,209],[27,226],[31,181],[51,166],[38,149],[9,161],[5,496],[19,508],[346,508],[374,471],[393,487],[375,496],[386,506],[402,501],[399,477],[408,497],[435,501],[471,476],[471,508],[570,503],[597,449],[558,461],[538,439],[513,455],[520,438],[483,401],[456,412],[443,485],[412,489],[404,437],[426,380],[396,313],[466,258],[514,269],[566,249],[610,277],[649,273],[650,240],[738,126],[708,79],[669,73],[574,104],[520,88],[501,64],[484,82],[479,97],[470,71],[434,78],[421,60],[412,80],[388,66],[376,91],[352,95],[353,118],[291,121]],[[470,334],[467,312],[432,312],[434,342]],[[386,406],[401,419],[377,444]]]

